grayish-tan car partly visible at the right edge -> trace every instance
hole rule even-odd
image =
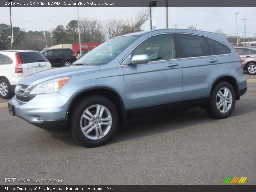
[[[256,74],[256,47],[235,47],[243,61],[243,68],[250,75]]]

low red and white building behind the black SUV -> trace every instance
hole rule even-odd
[[[99,44],[101,43],[81,43],[82,53],[92,50],[94,47],[97,47]],[[61,49],[61,48],[72,49],[76,55],[80,53],[79,43],[59,44],[59,45],[54,45],[52,47],[47,47],[45,49]]]

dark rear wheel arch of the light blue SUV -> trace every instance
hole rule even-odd
[[[235,90],[236,93],[236,100],[240,100],[240,93],[239,93],[239,88],[238,88],[238,84],[236,81],[236,78],[234,76],[231,75],[225,75],[225,76],[220,76],[218,77],[212,84],[212,88],[210,91],[210,95],[212,95],[212,91],[214,89],[214,87],[216,86],[216,84],[218,84],[220,81],[227,81],[228,83],[230,83],[232,85],[232,87]]]

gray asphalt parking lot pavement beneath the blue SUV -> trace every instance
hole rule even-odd
[[[255,185],[255,95],[256,82],[250,82],[227,119],[196,108],[129,121],[98,148],[37,128],[2,107],[0,184],[16,177],[62,179],[54,184],[64,185],[220,185],[237,176]]]

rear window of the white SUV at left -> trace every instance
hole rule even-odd
[[[18,55],[21,63],[48,62],[40,52],[19,52]]]

